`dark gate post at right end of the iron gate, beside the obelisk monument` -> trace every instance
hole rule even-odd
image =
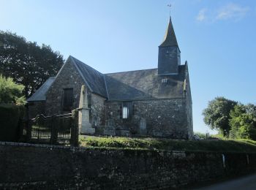
[[[78,110],[72,110],[70,145],[78,146]]]

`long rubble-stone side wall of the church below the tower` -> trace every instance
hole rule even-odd
[[[127,121],[121,117],[122,102],[106,102],[107,118],[114,121],[116,129],[129,129],[133,134],[141,134],[140,128],[146,124],[146,135],[187,139],[186,104],[186,99],[134,101],[132,118]]]

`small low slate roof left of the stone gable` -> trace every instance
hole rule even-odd
[[[42,84],[40,88],[35,91],[35,93],[27,99],[28,102],[35,102],[35,101],[45,101],[48,89],[52,85],[53,81],[55,80],[55,77],[49,77],[48,80],[45,81],[45,83]]]

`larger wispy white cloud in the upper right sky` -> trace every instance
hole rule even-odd
[[[249,7],[241,7],[238,4],[227,4],[219,9],[217,12],[217,20],[241,20],[249,11]]]

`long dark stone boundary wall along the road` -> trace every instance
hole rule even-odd
[[[256,171],[256,153],[0,142],[0,189],[170,189]]]

